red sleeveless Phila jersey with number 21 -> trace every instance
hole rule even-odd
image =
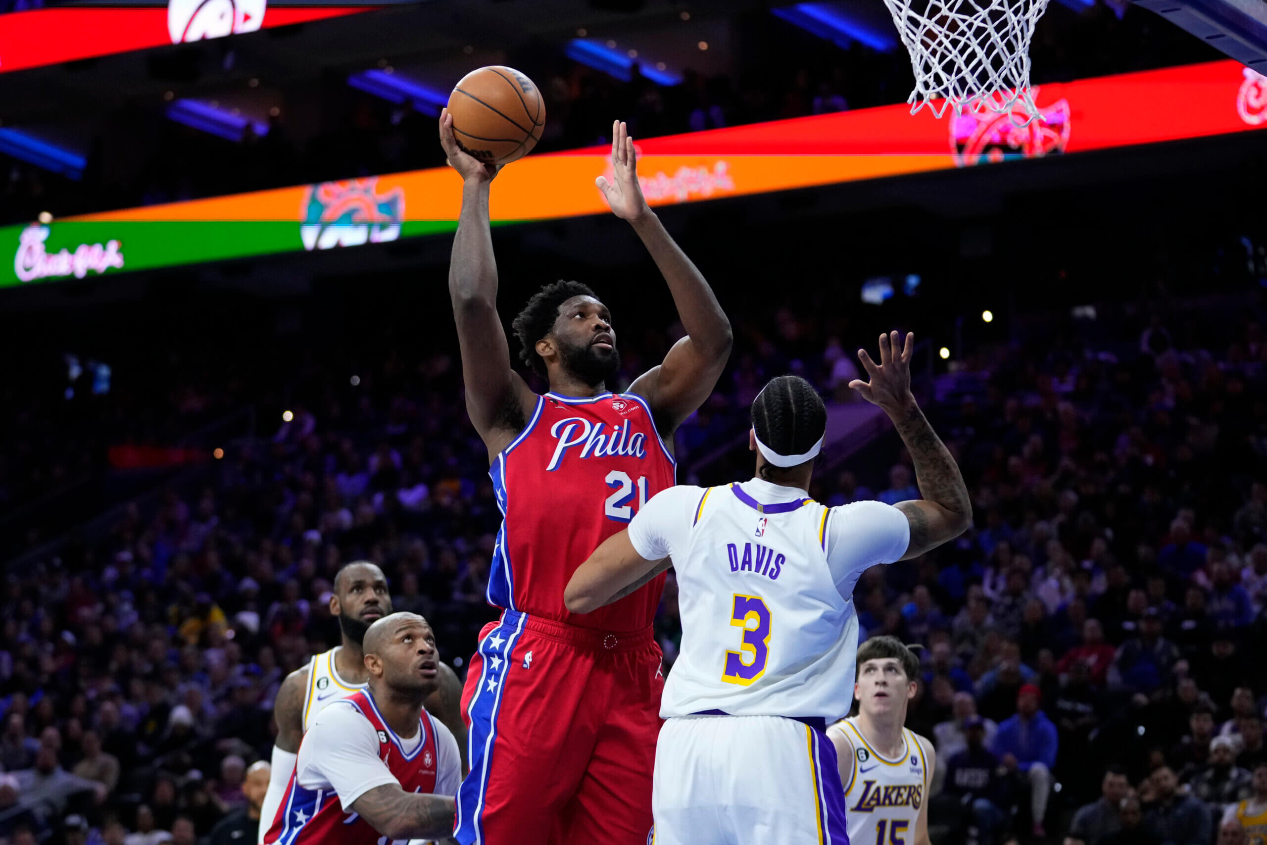
[[[593,613],[571,613],[563,603],[571,574],[594,549],[673,486],[674,461],[646,399],[547,393],[489,475],[503,516],[488,579],[492,604],[604,631],[651,625],[664,575]]]

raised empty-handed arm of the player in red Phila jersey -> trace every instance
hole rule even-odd
[[[646,398],[660,435],[668,437],[712,393],[730,357],[730,321],[708,283],[673,241],[646,204],[637,181],[637,156],[625,123],[612,125],[612,179],[598,177],[612,213],[628,220],[669,283],[687,336],[673,345],[664,364],[639,376],[630,391]]]

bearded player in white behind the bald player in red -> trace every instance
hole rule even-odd
[[[260,835],[264,841],[269,825],[277,812],[281,793],[286,789],[290,772],[295,768],[299,741],[313,720],[326,707],[365,689],[369,671],[361,641],[369,627],[392,613],[392,595],[383,570],[366,560],[345,564],[334,574],[329,612],[338,618],[342,645],[319,654],[308,665],[290,673],[281,682],[274,717],[277,720],[277,739],[272,746],[272,774],[269,793],[261,810]],[[443,663],[438,664],[437,687],[427,698],[427,711],[445,723],[457,739],[462,751],[462,770],[466,766],[466,726],[462,723],[460,701],[462,685],[456,673]]]

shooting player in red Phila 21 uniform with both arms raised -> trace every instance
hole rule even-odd
[[[462,176],[449,289],[466,409],[504,514],[488,587],[504,611],[481,632],[462,690],[471,766],[457,796],[462,845],[644,845],[651,829],[664,685],[651,622],[664,578],[649,574],[593,613],[569,612],[563,592],[603,540],[673,485],[673,432],[712,391],[731,331],[642,198],[625,124],[612,134],[613,175],[598,189],[655,260],[687,337],[612,394],[620,355],[607,307],[583,284],[546,285],[513,322],[521,360],[550,385],[537,395],[511,366],[497,312],[489,189],[498,171],[461,151],[447,111],[440,120]]]

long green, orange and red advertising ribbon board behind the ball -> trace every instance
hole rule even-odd
[[[651,205],[793,190],[1020,158],[1267,128],[1267,76],[1223,61],[1036,89],[1045,120],[938,120],[906,105],[796,118],[639,144]],[[497,177],[494,224],[602,214],[608,151],[528,156]],[[0,286],[451,232],[461,190],[447,167],[0,227]],[[6,246],[5,246],[6,245]]]

